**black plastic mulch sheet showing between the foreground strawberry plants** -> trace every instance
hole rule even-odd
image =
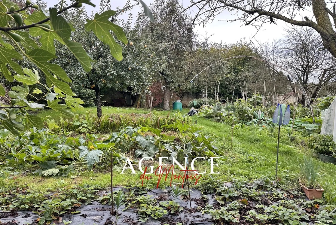
[[[113,190],[118,190],[120,187],[113,188]],[[148,193],[143,195],[152,195],[152,198],[157,198],[160,195],[168,196],[167,200],[173,200],[171,196],[169,196],[169,189],[152,189],[149,190]],[[98,194],[108,194],[110,190],[100,191]],[[198,206],[204,207],[202,205],[202,200],[200,200],[201,192],[196,189],[191,189],[191,205],[192,208],[196,209]],[[209,198],[208,204],[214,204],[214,200],[212,199],[212,195],[207,195]],[[166,200],[166,201],[167,201]],[[198,201],[200,200],[200,201]],[[127,209],[124,210],[125,207],[122,208],[118,212],[118,225],[137,225],[137,224],[144,224],[144,225],[162,225],[162,224],[169,224],[175,225],[176,223],[182,223],[183,225],[212,225],[214,224],[212,218],[209,214],[202,214],[202,212],[196,211],[194,213],[189,213],[186,209],[190,209],[189,200],[177,200],[184,210],[182,212],[178,212],[177,215],[167,214],[164,217],[155,220],[153,218],[149,218],[146,222],[138,221],[138,214],[136,213],[136,209]],[[160,201],[165,202],[165,201]],[[203,203],[204,204],[204,203]],[[164,207],[163,207],[164,208]],[[58,223],[58,221],[54,221],[57,225],[64,224],[64,221],[71,221],[70,225],[109,225],[115,224],[116,217],[110,215],[111,206],[108,205],[101,205],[99,202],[92,202],[91,205],[82,205],[76,209],[76,211],[80,211],[80,213],[74,215],[61,215],[62,223]],[[1,212],[0,212],[1,214]],[[37,220],[39,216],[35,213],[28,212],[28,211],[17,211],[17,213],[10,215],[6,218],[0,219],[0,224],[4,225],[23,225],[23,224],[33,224],[34,221]],[[52,223],[51,223],[52,224]]]

